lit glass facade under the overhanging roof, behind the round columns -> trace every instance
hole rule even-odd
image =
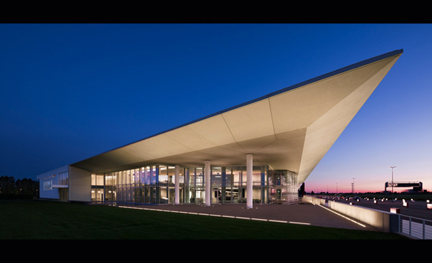
[[[210,173],[211,204],[246,203],[246,166],[214,166]],[[282,187],[286,177],[281,175],[268,166],[253,166],[253,202],[268,204],[282,200],[286,196],[282,194],[286,192],[286,186]],[[180,168],[178,180],[180,203],[206,203],[204,167]],[[173,204],[175,184],[175,167],[164,164],[105,173],[105,177],[92,174],[92,200]]]

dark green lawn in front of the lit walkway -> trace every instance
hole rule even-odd
[[[321,228],[101,205],[0,200],[0,239],[405,239]]]

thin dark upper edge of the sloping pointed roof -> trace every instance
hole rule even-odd
[[[113,150],[117,150],[117,149],[120,149],[120,148],[126,147],[126,146],[128,146],[128,145],[132,145],[132,144],[137,143],[137,142],[139,142],[139,141],[144,141],[144,140],[146,140],[146,139],[148,139],[148,138],[152,138],[152,137],[158,136],[158,135],[160,135],[160,134],[167,133],[168,131],[173,131],[173,130],[175,130],[175,129],[178,129],[178,128],[181,128],[181,127],[185,127],[185,126],[190,125],[190,124],[192,124],[192,123],[194,123],[194,122],[199,122],[199,121],[201,121],[201,120],[206,120],[207,118],[211,118],[211,117],[213,117],[213,116],[215,116],[215,115],[219,115],[219,114],[222,114],[222,113],[225,113],[225,112],[228,112],[228,111],[232,111],[233,109],[238,109],[238,108],[240,108],[240,107],[242,107],[242,106],[246,106],[246,105],[248,105],[248,104],[252,104],[252,103],[254,103],[254,102],[259,102],[259,101],[262,100],[262,99],[267,99],[267,98],[269,98],[269,97],[272,97],[272,96],[275,96],[275,95],[278,95],[278,94],[284,93],[284,92],[286,92],[286,91],[288,91],[288,90],[293,90],[293,89],[295,89],[295,88],[299,88],[299,87],[305,86],[305,85],[307,85],[307,84],[309,84],[309,83],[314,83],[314,82],[316,82],[316,81],[320,81],[320,80],[322,80],[322,79],[327,79],[327,78],[332,77],[332,76],[335,76],[335,75],[337,75],[337,74],[341,74],[341,73],[344,73],[344,72],[348,72],[348,71],[350,71],[350,70],[354,70],[354,69],[357,68],[357,67],[362,67],[362,66],[364,66],[364,65],[368,65],[368,64],[371,64],[371,63],[374,63],[374,62],[377,62],[377,61],[381,61],[381,60],[383,60],[383,59],[385,59],[385,58],[390,58],[390,57],[392,57],[392,56],[396,56],[396,55],[399,55],[399,54],[402,54],[402,53],[403,53],[403,49],[396,49],[396,50],[394,50],[394,51],[390,51],[390,52],[388,52],[388,53],[381,54],[381,55],[378,55],[378,56],[374,56],[373,58],[368,58],[368,59],[366,59],[366,60],[364,60],[364,61],[360,61],[360,62],[357,62],[357,63],[351,64],[351,65],[348,65],[348,66],[346,66],[346,67],[341,67],[339,70],[334,70],[334,71],[332,71],[332,72],[329,72],[329,73],[327,73],[327,74],[323,74],[323,75],[318,76],[318,77],[314,77],[314,78],[309,79],[309,80],[307,80],[307,81],[302,81],[302,82],[297,83],[297,84],[294,84],[294,85],[292,85],[292,86],[288,86],[288,87],[286,87],[286,88],[281,88],[280,90],[276,90],[275,92],[269,93],[268,95],[263,95],[263,96],[258,97],[258,98],[256,98],[256,99],[249,100],[248,102],[243,102],[243,103],[238,104],[238,105],[236,105],[236,106],[231,106],[231,107],[228,108],[228,109],[224,109],[224,110],[222,110],[222,111],[217,111],[217,112],[215,112],[215,113],[212,113],[212,114],[210,114],[210,115],[206,115],[206,116],[201,117],[201,118],[198,118],[198,119],[196,119],[196,120],[192,120],[192,121],[190,121],[190,122],[186,122],[186,123],[183,124],[183,125],[178,125],[177,127],[173,127],[173,128],[171,128],[171,129],[167,129],[167,130],[165,130],[165,131],[158,132],[157,134],[153,134],[153,135],[151,135],[151,136],[147,136],[147,137],[145,137],[145,138],[139,139],[138,141],[134,141],[134,142],[132,142],[132,143],[128,143],[128,144],[126,144],[126,145],[122,145],[122,146],[120,146],[120,147],[118,147],[118,148],[114,148],[114,149],[108,150],[108,151],[106,151],[106,152],[101,152],[100,154],[105,154],[105,153],[107,153],[107,152],[111,152],[111,151],[113,151]],[[98,156],[98,155],[100,155],[100,154],[96,154],[95,156]],[[95,156],[93,156],[93,157],[95,157]],[[90,158],[93,158],[93,157],[88,157],[88,158],[86,158],[86,159],[90,159]],[[84,159],[84,160],[86,160],[86,159]],[[84,161],[84,160],[81,160],[81,161]],[[80,161],[76,161],[76,162],[73,163],[73,164],[77,164],[77,163],[79,163],[79,162],[80,162]],[[73,165],[73,164],[71,164],[71,165]]]

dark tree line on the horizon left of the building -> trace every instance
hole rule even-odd
[[[28,178],[0,177],[0,198],[38,198],[39,182]]]

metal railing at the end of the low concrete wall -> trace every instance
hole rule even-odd
[[[432,221],[400,215],[399,234],[414,239],[432,239]]]

